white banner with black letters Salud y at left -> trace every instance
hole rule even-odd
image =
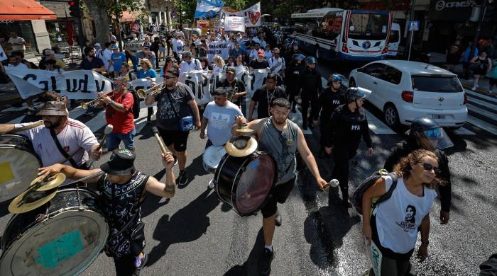
[[[89,100],[97,98],[98,92],[112,90],[111,80],[91,70],[59,74],[57,71],[5,68],[23,99],[45,91],[55,91],[70,99]]]

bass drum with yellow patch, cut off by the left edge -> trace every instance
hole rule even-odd
[[[0,135],[0,202],[21,194],[38,177],[41,160],[28,137]]]

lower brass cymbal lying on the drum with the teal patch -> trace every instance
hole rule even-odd
[[[57,194],[57,191],[57,188],[43,191],[25,190],[21,195],[18,195],[12,200],[9,205],[9,212],[12,214],[21,214],[34,210],[52,200],[55,194]],[[23,200],[25,202],[22,202]]]

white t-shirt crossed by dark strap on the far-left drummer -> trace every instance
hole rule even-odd
[[[81,165],[88,160],[87,151],[90,151],[92,146],[97,145],[98,141],[92,130],[89,130],[89,127],[82,122],[71,118],[67,118],[67,120],[66,127],[57,134],[57,138],[60,146],[72,156],[72,159],[74,159],[78,165]],[[34,122],[16,124],[16,128],[32,125],[33,123]],[[51,166],[55,163],[62,163],[62,161],[65,160],[65,157],[62,156],[55,145],[52,135],[50,135],[50,130],[48,130],[45,125],[40,125],[31,130],[25,130],[18,133],[26,135],[26,137],[31,140],[33,149],[35,150],[35,153],[40,156],[43,166]],[[65,162],[65,164],[71,165],[69,161]]]

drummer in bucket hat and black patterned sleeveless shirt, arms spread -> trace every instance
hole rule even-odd
[[[104,171],[104,175],[91,178],[87,182],[97,182],[102,196],[104,213],[110,227],[104,251],[114,258],[118,276],[139,275],[146,264],[148,255],[143,251],[145,233],[140,207],[146,192],[159,197],[173,197],[175,192],[174,158],[171,154],[162,154],[165,183],[136,171],[133,165],[135,158],[136,155],[129,149],[121,149],[114,151],[107,163],[94,170],[79,170],[55,164],[40,168],[38,173],[40,176],[64,173],[68,178],[79,179]]]

